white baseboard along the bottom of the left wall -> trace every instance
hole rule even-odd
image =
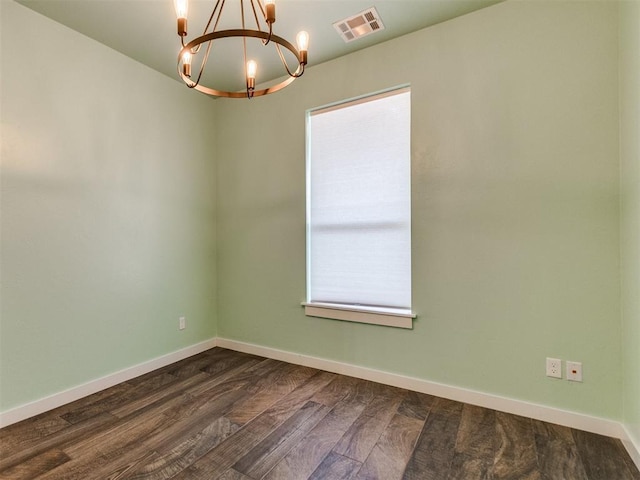
[[[145,373],[152,372],[158,368],[171,365],[172,363],[204,352],[205,350],[209,350],[210,348],[215,347],[216,344],[216,339],[212,338],[210,340],[191,345],[190,347],[154,358],[153,360],[134,365],[133,367],[125,368],[124,370],[106,375],[102,378],[91,380],[90,382],[70,388],[69,390],[55,393],[41,400],[36,400],[35,402],[27,403],[5,412],[0,412],[0,428],[40,415],[41,413],[53,410],[54,408],[58,408],[67,403],[75,402],[76,400],[88,395],[113,387],[119,383],[126,382],[132,378],[139,377]]]

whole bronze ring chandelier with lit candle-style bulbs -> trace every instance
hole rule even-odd
[[[300,32],[297,36],[297,48],[289,41],[273,33],[273,24],[276,21],[275,0],[236,0],[240,2],[240,27],[235,29],[218,30],[220,18],[225,7],[226,0],[216,0],[211,12],[211,16],[204,28],[202,35],[187,42],[187,12],[188,0],[174,0],[176,14],[178,16],[178,35],[182,43],[182,49],[178,54],[178,73],[184,83],[189,88],[194,88],[207,95],[229,98],[252,98],[283,89],[296,78],[302,76],[304,67],[307,64],[307,48],[309,45],[309,34]],[[245,5],[246,3],[246,5]],[[245,8],[246,7],[246,8]],[[248,20],[245,18],[248,18]],[[255,28],[253,28],[253,20]],[[247,28],[250,24],[252,28]],[[215,40],[222,38],[240,38],[242,40],[242,65],[246,89],[241,91],[227,91],[202,85],[203,73],[211,54],[211,49]],[[280,57],[280,61],[287,73],[286,78],[264,89],[256,89],[256,76],[258,64],[253,59],[247,58],[247,39],[258,39],[263,46],[272,45]],[[297,59],[295,68],[290,68],[283,53],[283,48],[288,50]],[[290,56],[290,55],[289,55]],[[194,62],[194,60],[198,62]],[[192,63],[194,63],[194,73],[192,73]],[[200,65],[195,68],[195,63]]]

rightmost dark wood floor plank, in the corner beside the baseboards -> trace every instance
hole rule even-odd
[[[619,461],[620,440],[580,430],[572,433],[589,480],[633,480],[628,465]]]

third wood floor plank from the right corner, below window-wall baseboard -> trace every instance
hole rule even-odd
[[[531,419],[496,413],[498,449],[490,470],[495,480],[540,480]]]

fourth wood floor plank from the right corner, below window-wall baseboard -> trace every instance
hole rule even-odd
[[[465,404],[456,437],[449,480],[489,478],[496,454],[494,410]]]

